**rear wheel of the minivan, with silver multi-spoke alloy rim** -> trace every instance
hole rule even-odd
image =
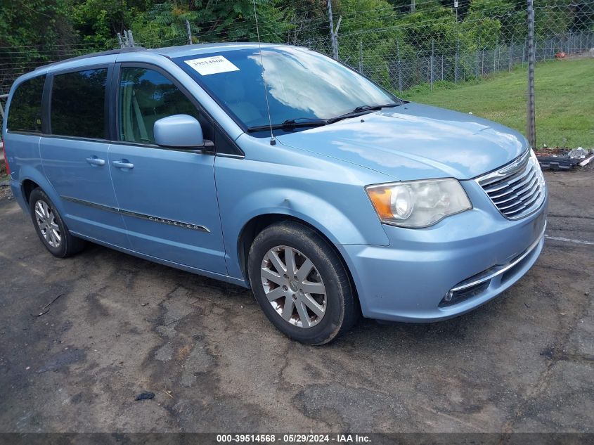
[[[70,257],[84,249],[86,242],[70,234],[56,206],[41,188],[31,192],[29,209],[37,236],[54,257]]]

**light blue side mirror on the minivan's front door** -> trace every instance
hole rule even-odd
[[[212,142],[205,141],[202,127],[195,117],[174,115],[163,117],[153,127],[155,142],[160,146],[179,148],[205,148]]]

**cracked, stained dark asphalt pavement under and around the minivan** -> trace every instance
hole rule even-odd
[[[545,176],[547,235],[594,243],[592,172]],[[549,238],[459,318],[309,347],[250,291],[97,245],[55,259],[7,198],[0,224],[0,432],[594,432],[593,244]]]

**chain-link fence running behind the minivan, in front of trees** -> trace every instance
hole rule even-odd
[[[443,3],[416,0],[400,8],[349,11],[337,2],[332,11],[332,4],[314,1],[289,21],[267,23],[261,19],[260,37],[335,56],[396,93],[413,86],[432,89],[439,82],[479,79],[528,63],[526,2],[461,0],[452,1],[451,7]],[[536,1],[534,15],[537,61],[569,57],[594,47],[594,0]],[[172,22],[168,34],[135,32],[134,37],[137,46],[154,48],[188,41],[253,41],[255,35],[252,16],[235,20],[224,29],[212,23]],[[0,47],[0,95],[24,72],[117,47],[117,39],[113,42],[108,48],[87,44]],[[130,42],[122,39],[124,44]]]

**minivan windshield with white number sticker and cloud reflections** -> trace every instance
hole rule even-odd
[[[399,103],[365,77],[308,49],[265,46],[262,60],[273,125],[289,120],[328,120],[362,105]],[[174,61],[244,127],[269,124],[257,48],[185,56]]]

